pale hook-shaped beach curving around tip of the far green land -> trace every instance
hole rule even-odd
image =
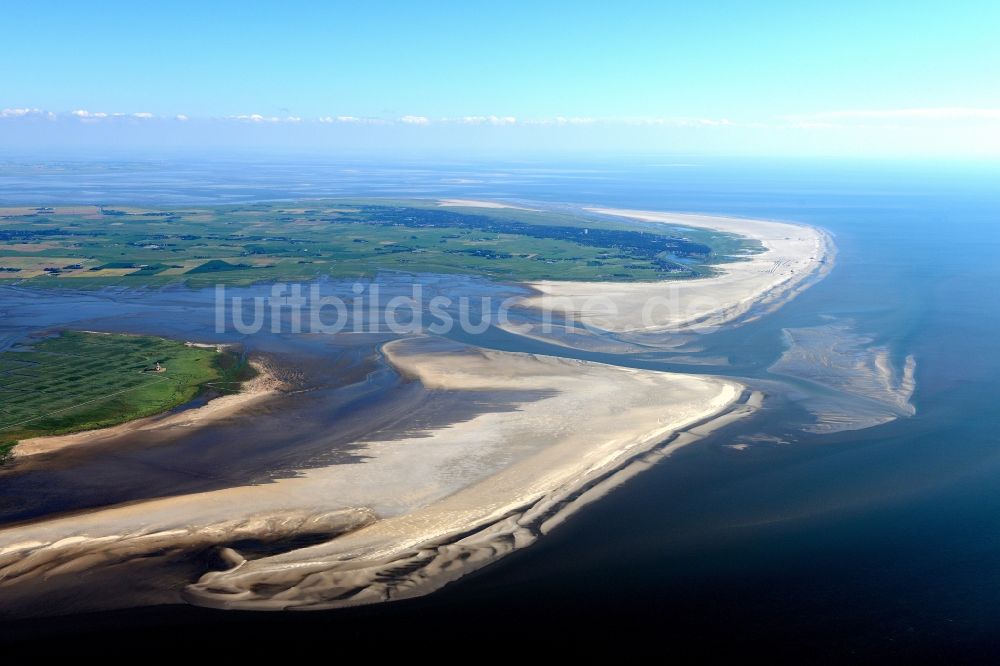
[[[523,303],[564,314],[600,331],[626,334],[698,332],[749,321],[779,307],[833,266],[834,245],[815,227],[708,215],[591,208],[603,215],[699,227],[758,240],[765,251],[719,266],[721,275],[659,282],[529,283]]]

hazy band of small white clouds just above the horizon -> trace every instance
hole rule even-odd
[[[429,153],[708,152],[1000,155],[1000,107],[848,109],[763,119],[695,116],[367,117],[0,108],[8,149],[260,148]]]

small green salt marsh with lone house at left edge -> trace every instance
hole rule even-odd
[[[252,373],[232,352],[148,336],[66,331],[0,353],[0,459],[19,440],[158,414]]]

